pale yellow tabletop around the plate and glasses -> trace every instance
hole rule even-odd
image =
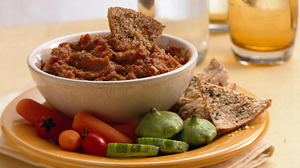
[[[0,98],[10,92],[33,87],[26,63],[27,55],[38,45],[73,33],[108,30],[107,20],[59,22],[0,28]],[[298,26],[299,29],[300,26]],[[299,31],[299,30],[298,30]],[[283,65],[244,66],[239,64],[230,48],[228,33],[211,33],[208,52],[196,72],[215,57],[229,71],[232,83],[247,89],[258,97],[272,99],[269,108],[270,127],[264,139],[275,145],[272,158],[259,166],[300,167],[300,39],[296,36],[291,59]],[[5,167],[31,167],[21,161],[0,154]]]

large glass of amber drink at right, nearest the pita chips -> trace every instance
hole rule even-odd
[[[243,65],[280,64],[294,44],[298,0],[229,0],[229,33]]]

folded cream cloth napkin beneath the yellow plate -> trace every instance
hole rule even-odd
[[[4,108],[7,104],[21,94],[22,91],[17,91],[12,94],[9,94],[3,97],[0,100],[0,115],[2,114]],[[0,130],[1,132],[1,130]],[[247,151],[237,155],[233,158],[230,158],[226,161],[222,161],[213,165],[206,166],[205,168],[215,168],[215,167],[222,167],[222,168],[253,168],[261,165],[266,160],[268,160],[274,152],[274,145],[273,143],[267,140],[261,140],[255,145],[253,145]],[[56,168],[56,166],[52,166],[50,164],[46,164],[44,162],[32,159],[22,153],[18,152],[16,149],[11,147],[3,138],[2,133],[0,135],[0,153],[4,155],[8,155],[10,157],[19,159],[23,162],[31,164],[33,167],[44,167],[44,168]]]

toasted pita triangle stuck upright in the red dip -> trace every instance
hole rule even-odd
[[[110,33],[124,42],[143,43],[152,47],[165,25],[142,12],[122,7],[110,7],[107,13]]]

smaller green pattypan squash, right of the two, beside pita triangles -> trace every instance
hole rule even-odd
[[[190,120],[184,121],[183,130],[179,132],[175,139],[186,142],[191,146],[204,146],[217,136],[217,129],[208,120],[197,118],[193,114]]]

